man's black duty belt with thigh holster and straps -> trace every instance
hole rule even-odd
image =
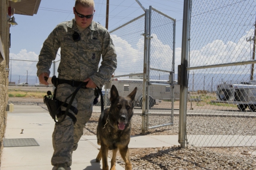
[[[55,86],[55,90],[53,92],[53,95],[51,93],[51,91],[47,92],[47,95],[44,96],[44,103],[46,104],[49,114],[51,115],[51,117],[54,119],[54,121],[56,123],[61,123],[64,121],[64,119],[66,118],[66,116],[68,115],[74,122],[74,124],[76,123],[77,119],[76,117],[70,113],[68,110],[72,110],[73,113],[75,113],[75,115],[77,115],[78,110],[76,107],[72,106],[72,102],[76,97],[77,92],[79,91],[80,88],[82,89],[87,89],[86,85],[88,82],[82,82],[82,81],[75,81],[75,80],[64,80],[64,79],[60,79],[57,78],[56,76],[52,76],[52,84]],[[59,101],[58,99],[56,99],[56,91],[57,91],[57,86],[59,84],[69,84],[72,87],[76,87],[75,92],[73,92],[71,95],[69,95],[64,102]],[[103,97],[102,97],[102,92],[100,88],[95,88],[94,89],[94,95],[96,96],[96,98],[98,98],[101,95],[101,112],[104,109],[104,101],[103,101]],[[70,99],[69,103],[67,103],[67,100]],[[61,106],[66,107],[65,111],[61,111]],[[56,117],[60,118],[61,115],[64,115],[62,120],[58,120],[56,121]]]

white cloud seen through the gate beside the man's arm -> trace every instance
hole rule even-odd
[[[171,71],[173,56],[172,48],[170,45],[162,43],[157,35],[153,34],[152,36],[154,38],[151,40],[151,67]],[[112,35],[112,40],[115,45],[115,51],[117,51],[117,69],[115,75],[143,73],[143,36],[134,45],[129,44],[126,40],[117,35]],[[180,59],[180,57],[177,57],[176,59]],[[178,61],[180,63],[180,60],[176,60],[176,62]]]

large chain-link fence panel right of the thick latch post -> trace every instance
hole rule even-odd
[[[191,2],[186,143],[256,155],[256,2]]]

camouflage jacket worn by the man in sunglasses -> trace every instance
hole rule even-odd
[[[81,37],[77,42],[72,38],[75,31],[79,32]],[[102,88],[117,68],[117,55],[109,32],[94,21],[82,32],[77,28],[75,19],[58,24],[40,51],[36,65],[38,76],[44,72],[50,73],[49,68],[59,48],[59,78],[84,81],[89,77]],[[101,56],[102,62],[98,68]]]

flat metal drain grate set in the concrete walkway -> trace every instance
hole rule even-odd
[[[40,146],[34,138],[3,139],[3,147]]]

